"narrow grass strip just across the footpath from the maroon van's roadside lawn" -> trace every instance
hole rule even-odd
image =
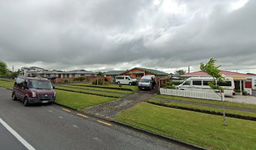
[[[76,92],[76,93],[92,94],[92,95],[104,96],[104,97],[109,97],[109,98],[124,97],[124,95],[122,95],[122,94],[102,93],[102,92],[97,92],[97,91],[86,91],[85,89],[74,89],[74,88],[66,88],[66,87],[61,87],[61,86],[56,86],[55,89],[71,91],[71,92]]]

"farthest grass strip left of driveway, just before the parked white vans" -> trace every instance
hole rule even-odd
[[[106,89],[117,89],[117,90],[126,90],[126,91],[138,91],[138,86],[129,86],[129,85],[122,85],[120,88],[118,84],[109,84],[109,85],[93,85],[93,84],[84,84],[84,83],[78,83],[78,84],[70,84],[70,85],[78,85],[78,86],[89,86],[93,88],[106,88]]]

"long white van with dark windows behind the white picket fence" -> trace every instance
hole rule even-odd
[[[189,90],[189,89],[211,89],[208,83],[213,81],[212,77],[191,77],[179,84],[178,89]],[[232,96],[235,95],[235,83],[233,78],[225,78],[225,83],[219,83],[219,85],[224,89],[225,95]]]

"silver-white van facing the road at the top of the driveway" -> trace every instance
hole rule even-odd
[[[156,76],[146,75],[142,76],[139,80],[138,87],[139,89],[154,89],[156,86]]]

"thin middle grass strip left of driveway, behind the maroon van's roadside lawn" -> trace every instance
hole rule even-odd
[[[113,94],[113,93],[104,93],[104,92],[97,92],[97,91],[87,91],[85,89],[75,89],[75,88],[67,88],[63,86],[56,86],[55,88],[58,89],[67,89],[67,90],[72,90],[72,91],[77,91],[77,92],[83,92],[87,94],[99,94],[100,96],[115,96],[117,98],[122,98],[124,97],[124,94]]]

